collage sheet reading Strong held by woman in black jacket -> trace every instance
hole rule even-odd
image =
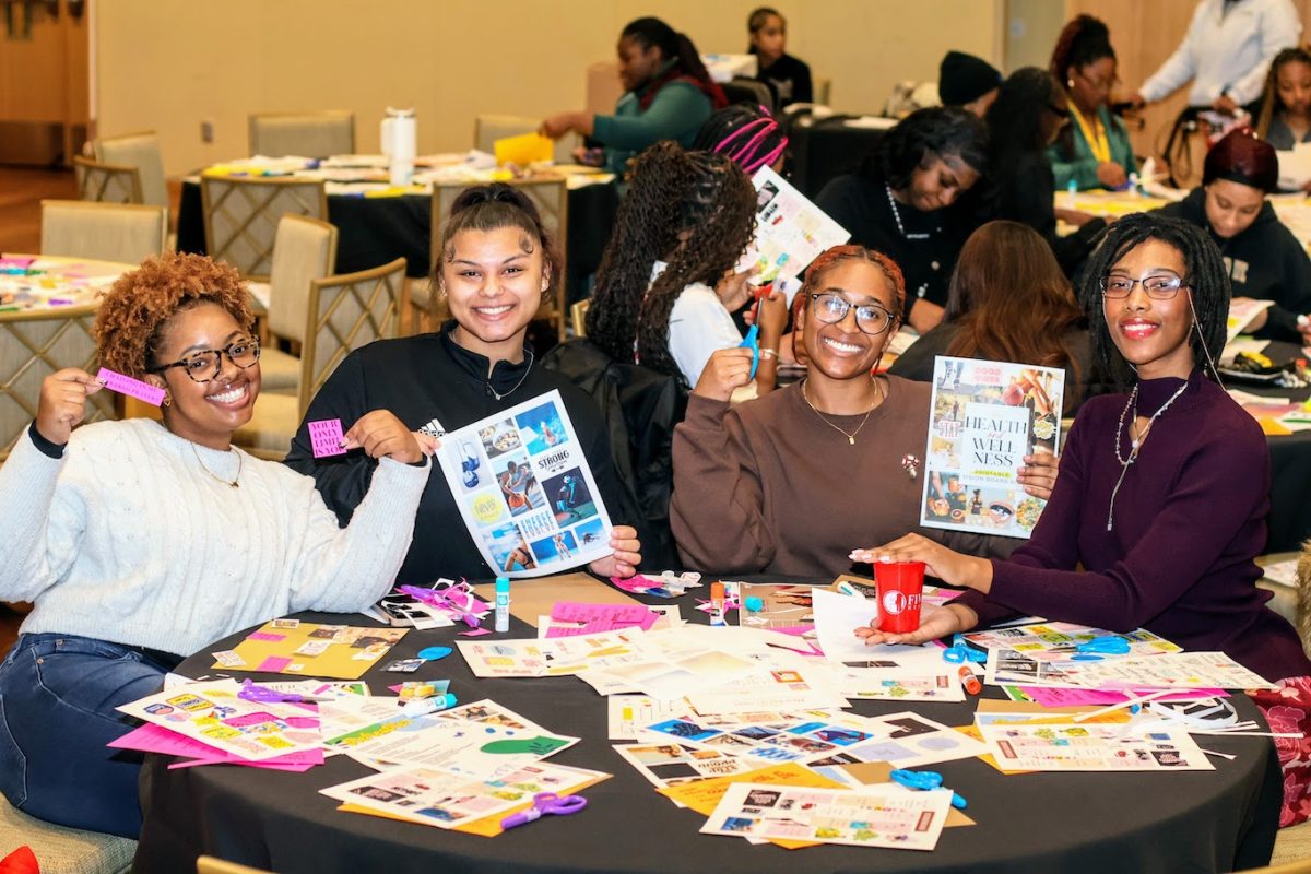
[[[610,514],[560,392],[443,435],[438,459],[497,573],[558,574],[612,552]]]

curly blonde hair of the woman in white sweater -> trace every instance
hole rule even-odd
[[[249,296],[235,267],[182,253],[147,258],[119,276],[100,304],[92,328],[100,363],[143,377],[159,366],[168,321],[201,304],[223,307],[243,330],[254,325]]]

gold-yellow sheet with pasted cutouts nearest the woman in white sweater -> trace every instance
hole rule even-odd
[[[353,625],[325,626],[315,622],[298,622],[291,626],[288,620],[274,620],[252,632],[232,650],[241,656],[244,664],[224,664],[216,660],[210,667],[220,671],[266,671],[292,676],[358,680],[387,655],[408,630]],[[354,646],[361,641],[364,641],[366,646]],[[326,646],[321,647],[319,655],[296,653],[305,645],[317,647],[323,643]],[[269,664],[267,659],[290,660],[284,664],[281,660]]]

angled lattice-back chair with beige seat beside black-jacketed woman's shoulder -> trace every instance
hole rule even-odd
[[[300,387],[295,396],[261,393],[250,422],[232,442],[261,459],[286,457],[309,401],[347,354],[400,335],[405,308],[405,258],[309,283]],[[349,422],[343,426],[350,427]]]

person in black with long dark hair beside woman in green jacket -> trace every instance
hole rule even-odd
[[[982,193],[983,218],[1029,225],[1051,246],[1066,275],[1074,275],[1106,223],[1086,212],[1055,208],[1055,177],[1047,161],[1047,147],[1062,126],[1070,123],[1065,89],[1047,71],[1021,67],[1002,84],[986,121],[988,160],[987,187]],[[1079,229],[1058,237],[1057,218]]]

